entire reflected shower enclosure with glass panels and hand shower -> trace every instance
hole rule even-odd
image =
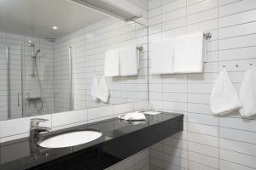
[[[73,110],[71,47],[60,64],[53,42],[15,36],[0,40],[0,121]],[[63,64],[66,72],[58,71]]]

